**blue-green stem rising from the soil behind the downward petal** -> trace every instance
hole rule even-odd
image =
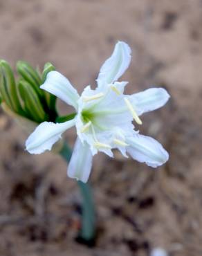
[[[71,158],[71,148],[64,143],[59,154],[68,163]],[[80,188],[82,194],[82,228],[80,230],[80,238],[84,241],[91,241],[95,237],[95,208],[93,203],[93,196],[89,183],[83,183],[77,181],[77,185]]]

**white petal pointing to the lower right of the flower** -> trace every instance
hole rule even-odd
[[[169,154],[154,138],[134,134],[133,137],[127,138],[126,142],[130,145],[127,147],[127,152],[140,163],[158,167],[169,158]]]

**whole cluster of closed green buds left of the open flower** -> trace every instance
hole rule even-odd
[[[41,73],[28,62],[19,61],[19,79],[15,80],[8,62],[0,60],[0,104],[6,104],[10,111],[34,122],[54,122],[57,118],[56,97],[40,89],[46,75],[54,70],[50,62],[45,64]]]

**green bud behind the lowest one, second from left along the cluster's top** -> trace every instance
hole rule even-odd
[[[28,64],[28,62],[18,61],[17,71],[26,82],[33,86],[33,89],[39,95],[39,98],[43,98],[44,91],[39,88],[39,86],[42,84],[42,78],[39,76],[33,66]]]

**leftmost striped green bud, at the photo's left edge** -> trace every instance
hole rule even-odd
[[[0,61],[0,91],[1,97],[8,107],[16,113],[21,112],[21,104],[17,95],[15,77],[10,65],[5,60]]]

